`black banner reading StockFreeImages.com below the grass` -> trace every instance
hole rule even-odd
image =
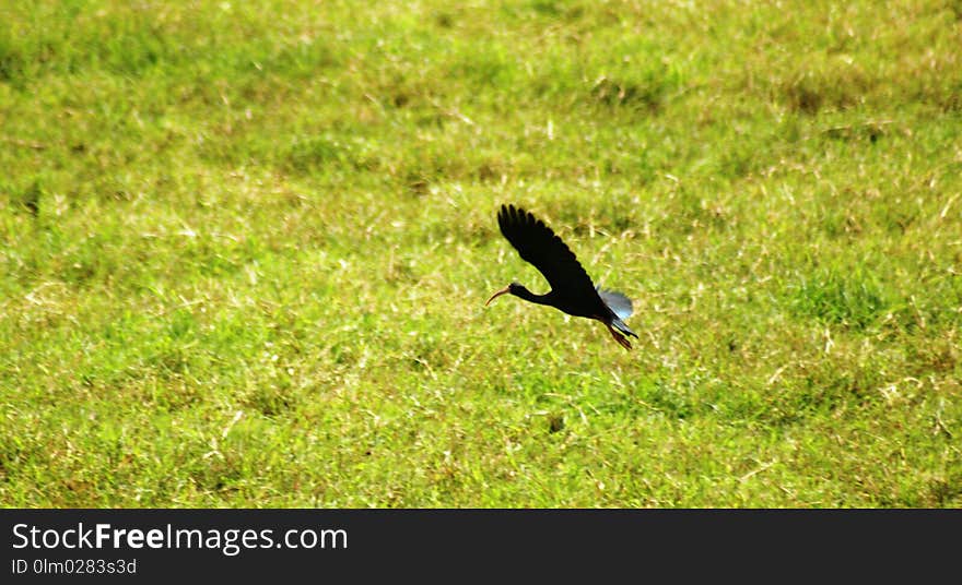
[[[794,576],[837,576],[854,563],[861,577],[902,569],[915,581],[955,565],[960,527],[959,511],[0,510],[0,575],[12,577],[4,583],[284,575],[596,582],[744,578],[772,564]],[[911,562],[913,554],[925,561]]]

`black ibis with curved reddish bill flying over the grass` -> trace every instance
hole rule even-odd
[[[595,286],[567,244],[530,212],[503,204],[497,212],[497,226],[521,260],[544,275],[551,290],[536,295],[513,282],[492,295],[485,307],[502,295],[514,295],[529,302],[554,307],[570,315],[596,319],[605,323],[619,345],[629,350],[632,348],[627,336],[638,336],[623,321],[632,314],[631,299]]]

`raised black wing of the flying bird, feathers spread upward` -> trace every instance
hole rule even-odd
[[[530,213],[502,205],[497,214],[501,232],[518,251],[521,260],[538,268],[552,290],[565,292],[595,291],[591,277],[575,258],[568,247],[561,241],[544,222]]]

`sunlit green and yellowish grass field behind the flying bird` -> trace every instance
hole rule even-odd
[[[0,22],[3,506],[962,505],[958,0]]]

